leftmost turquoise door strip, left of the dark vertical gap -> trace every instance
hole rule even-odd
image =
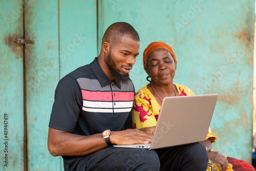
[[[24,49],[13,41],[14,37],[23,38],[23,17],[20,15],[23,11],[17,10],[20,6],[21,0],[0,2],[0,170],[24,170]],[[7,125],[4,124],[5,114],[8,115]],[[7,137],[5,128],[8,129]],[[8,144],[4,144],[6,141]],[[4,163],[6,154],[8,164]]]

